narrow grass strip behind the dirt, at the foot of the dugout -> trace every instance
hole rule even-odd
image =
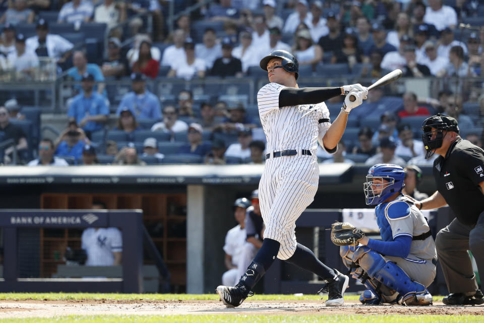
[[[346,300],[358,300],[358,295],[346,294]],[[323,295],[326,299],[327,295]],[[442,300],[443,296],[434,296],[434,301]],[[174,300],[218,300],[218,295],[213,294],[91,294],[91,293],[0,293],[0,300],[146,300],[146,301],[174,301]],[[282,301],[282,300],[319,300],[319,295],[264,295],[256,294],[249,301]]]

